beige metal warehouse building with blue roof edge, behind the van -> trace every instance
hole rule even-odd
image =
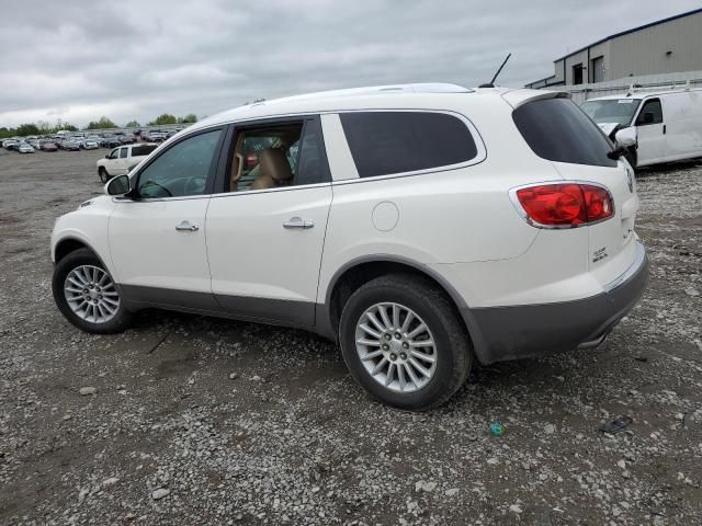
[[[554,61],[554,75],[526,84],[548,88],[655,73],[702,70],[702,9],[616,33]]]

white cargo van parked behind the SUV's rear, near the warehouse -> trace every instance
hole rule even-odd
[[[581,107],[614,141],[635,133],[632,167],[702,157],[702,89],[601,96]]]

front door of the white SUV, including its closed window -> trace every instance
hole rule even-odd
[[[133,178],[117,199],[109,243],[117,282],[134,301],[216,310],[211,291],[205,214],[225,127],[195,132]]]

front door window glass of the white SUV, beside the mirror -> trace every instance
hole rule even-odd
[[[199,134],[163,151],[139,173],[139,197],[204,194],[220,135],[222,129]]]

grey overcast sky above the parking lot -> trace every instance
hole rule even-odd
[[[687,0],[4,0],[0,126],[123,125],[257,98],[398,82],[521,87]]]

